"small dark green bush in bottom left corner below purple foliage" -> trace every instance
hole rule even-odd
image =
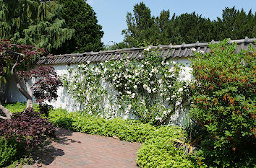
[[[0,138],[0,167],[5,167],[18,159],[22,153],[22,146],[14,138],[8,140]]]

